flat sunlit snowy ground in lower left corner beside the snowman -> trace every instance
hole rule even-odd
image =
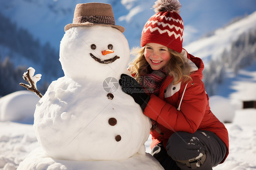
[[[33,125],[0,121],[0,170],[16,170],[38,146]]]

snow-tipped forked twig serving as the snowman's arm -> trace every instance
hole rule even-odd
[[[25,87],[27,90],[34,92],[38,97],[42,98],[43,95],[37,90],[36,82],[41,79],[41,74],[35,74],[35,69],[30,67],[27,72],[23,74],[23,79],[26,80],[30,85],[20,83],[21,86]]]

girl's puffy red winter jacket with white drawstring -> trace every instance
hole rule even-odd
[[[229,149],[228,132],[210,110],[209,97],[202,82],[203,61],[185,50],[182,54],[192,61],[189,61],[191,65],[195,64],[197,67],[194,67],[195,71],[191,74],[193,81],[173,85],[173,77],[167,76],[160,87],[159,95],[150,96],[144,115],[156,120],[161,131],[161,135],[156,130],[150,132],[153,140],[151,149],[161,141],[166,147],[174,132],[194,133],[196,130],[208,130],[214,132],[227,146],[226,158]]]

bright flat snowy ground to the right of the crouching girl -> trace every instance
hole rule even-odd
[[[230,154],[214,170],[256,170],[256,109],[239,109],[229,132]]]

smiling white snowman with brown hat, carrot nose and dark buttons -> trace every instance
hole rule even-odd
[[[162,170],[145,153],[149,118],[118,87],[120,75],[129,74],[123,31],[115,25],[111,5],[77,4],[60,45],[65,76],[53,81],[36,105],[34,129],[41,148],[20,169],[62,165],[99,170],[111,162],[111,169]]]

